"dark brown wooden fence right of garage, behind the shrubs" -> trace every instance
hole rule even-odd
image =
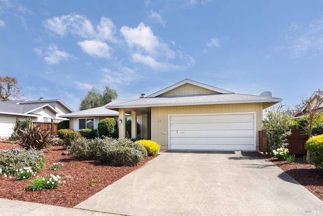
[[[291,136],[287,137],[288,150],[290,154],[306,154],[305,143],[308,140],[302,130],[292,130]],[[259,151],[267,152],[267,134],[259,131]]]

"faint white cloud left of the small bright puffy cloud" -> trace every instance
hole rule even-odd
[[[37,53],[38,51],[35,52]],[[67,61],[69,59],[76,58],[73,55],[70,55],[66,52],[59,51],[55,45],[50,45],[48,49],[44,52],[43,56],[47,64],[59,64],[61,61]]]

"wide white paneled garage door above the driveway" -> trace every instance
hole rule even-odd
[[[255,113],[169,115],[169,149],[256,150]]]

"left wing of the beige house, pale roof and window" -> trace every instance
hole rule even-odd
[[[104,118],[114,118],[118,122],[118,116],[117,111],[105,109],[104,106],[61,115],[70,119],[70,128],[74,131],[97,129],[98,122]]]

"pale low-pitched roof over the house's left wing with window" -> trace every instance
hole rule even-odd
[[[96,116],[119,116],[119,112],[105,109],[104,106],[96,107],[92,109],[86,109],[78,112],[72,112],[60,117],[64,118],[74,118],[74,117],[96,117]]]

